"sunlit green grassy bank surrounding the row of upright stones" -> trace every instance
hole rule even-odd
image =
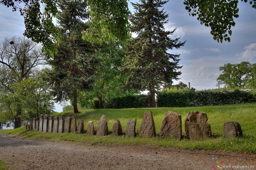
[[[184,134],[184,119],[187,112],[199,111],[205,112],[208,116],[208,123],[211,125],[212,137],[201,141],[190,141],[188,139],[161,139],[159,138],[160,128],[162,126],[163,116],[170,110],[181,114],[182,133]],[[126,130],[126,124],[130,119],[137,119],[136,132],[138,133],[144,112],[152,111],[156,127],[157,136],[153,138],[127,138],[125,136],[112,136],[112,127],[114,121],[121,121],[123,132]],[[36,131],[26,131],[24,127],[14,130],[2,130],[1,133],[10,134],[17,137],[47,141],[70,141],[81,145],[97,145],[99,143],[124,144],[124,145],[154,145],[163,147],[173,147],[190,150],[221,150],[244,153],[256,153],[256,103],[234,104],[225,106],[202,106],[185,108],[140,108],[140,109],[86,109],[81,113],[74,115],[72,111],[61,112],[58,115],[71,116],[84,120],[84,129],[87,128],[87,122],[93,121],[95,129],[102,115],[107,116],[108,136],[89,136],[77,133],[40,133]],[[223,138],[223,124],[226,121],[237,121],[242,127],[243,136],[240,138]]]

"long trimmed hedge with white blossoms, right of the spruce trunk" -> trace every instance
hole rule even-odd
[[[157,95],[157,107],[214,106],[255,102],[255,99],[255,90],[159,93]]]

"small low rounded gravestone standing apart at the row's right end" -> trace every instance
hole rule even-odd
[[[241,126],[236,121],[227,121],[223,125],[223,136],[227,138],[236,138],[243,135]]]

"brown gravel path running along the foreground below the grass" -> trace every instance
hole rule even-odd
[[[214,157],[212,157],[214,154]],[[0,158],[10,169],[212,169],[223,168],[221,161],[231,166],[254,166],[256,155],[179,151],[171,148],[142,145],[72,145],[18,139],[0,134]],[[214,160],[212,160],[214,158]],[[215,159],[217,158],[217,160]],[[218,161],[218,163],[216,162]],[[213,167],[215,166],[215,167]]]

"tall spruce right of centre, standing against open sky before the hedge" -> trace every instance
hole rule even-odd
[[[151,107],[156,107],[155,92],[163,84],[171,84],[181,74],[178,69],[179,55],[167,51],[180,48],[185,42],[179,38],[171,39],[173,31],[165,31],[164,24],[168,22],[162,8],[168,1],[140,0],[132,3],[136,10],[130,16],[131,31],[136,38],[130,39],[127,45],[124,72],[130,73],[126,85],[139,90],[148,90],[151,96]]]

